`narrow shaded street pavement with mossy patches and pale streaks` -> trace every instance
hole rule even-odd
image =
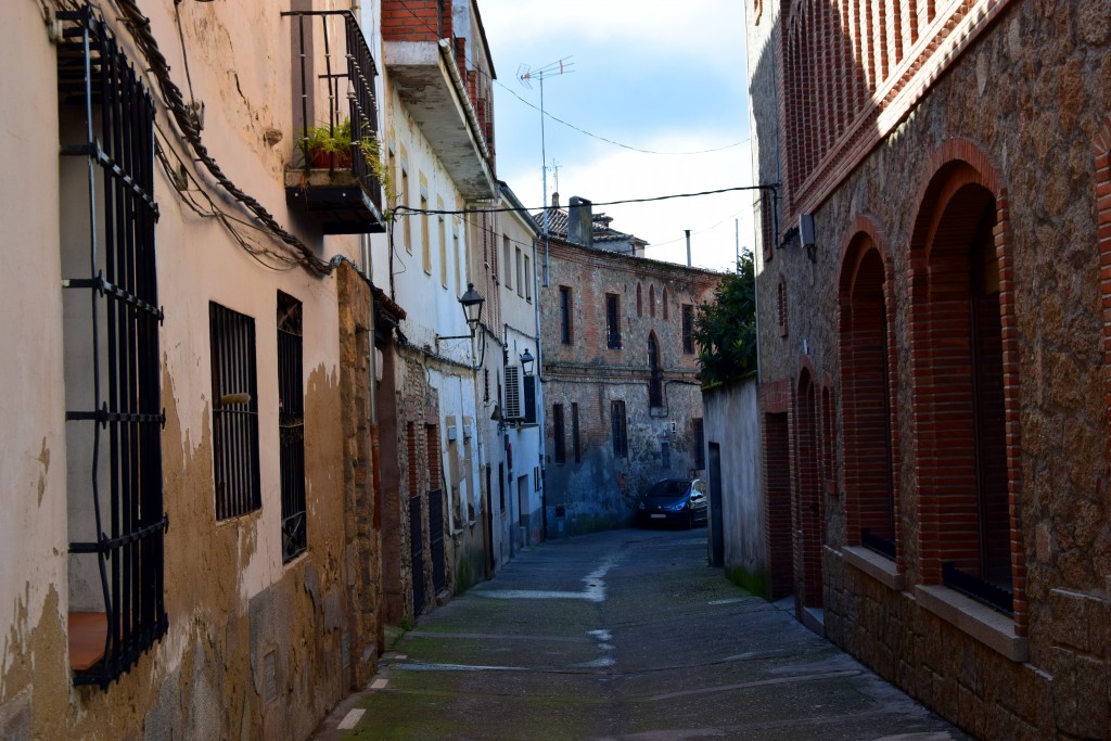
[[[317,738],[965,738],[705,563],[704,529],[521,553],[421,619]]]

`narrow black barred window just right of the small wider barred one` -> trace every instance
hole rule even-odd
[[[278,438],[282,560],[308,547],[304,507],[304,366],[301,302],[278,292]]]

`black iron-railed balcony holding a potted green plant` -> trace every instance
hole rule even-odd
[[[378,150],[378,69],[347,10],[293,11],[300,53],[300,120],[296,163],[286,170],[286,202],[326,234],[386,231]],[[341,30],[337,20],[341,21]],[[333,38],[336,37],[336,38]],[[323,53],[316,53],[322,47]],[[324,116],[312,117],[320,103]],[[311,108],[310,108],[311,107]],[[321,148],[322,146],[322,148]]]

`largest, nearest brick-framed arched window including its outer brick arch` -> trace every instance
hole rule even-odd
[[[1010,583],[1028,624],[1019,522],[1019,367],[1007,191],[953,139],[931,156],[909,244],[920,574]],[[972,493],[969,493],[972,492]],[[979,493],[975,493],[979,492]]]

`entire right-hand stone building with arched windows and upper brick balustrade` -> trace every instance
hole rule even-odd
[[[978,737],[1111,738],[1111,9],[748,29],[771,595]]]

